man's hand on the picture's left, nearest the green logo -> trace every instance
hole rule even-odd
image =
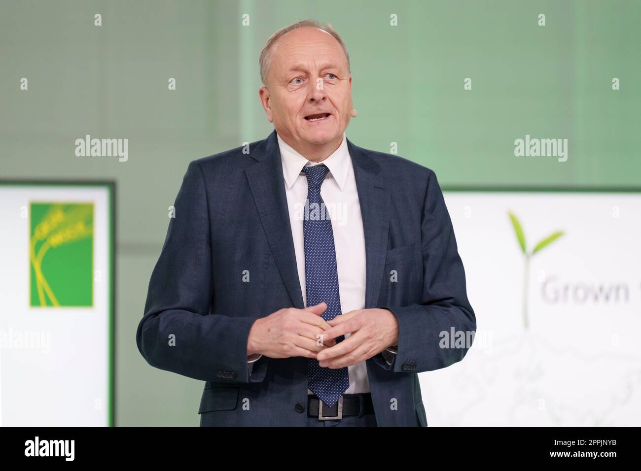
[[[320,317],[326,310],[327,304],[321,302],[306,309],[281,309],[256,319],[249,331],[247,356],[258,353],[270,358],[316,358],[318,352],[336,345],[333,338],[324,339],[324,345],[317,345],[319,335],[331,329]]]

